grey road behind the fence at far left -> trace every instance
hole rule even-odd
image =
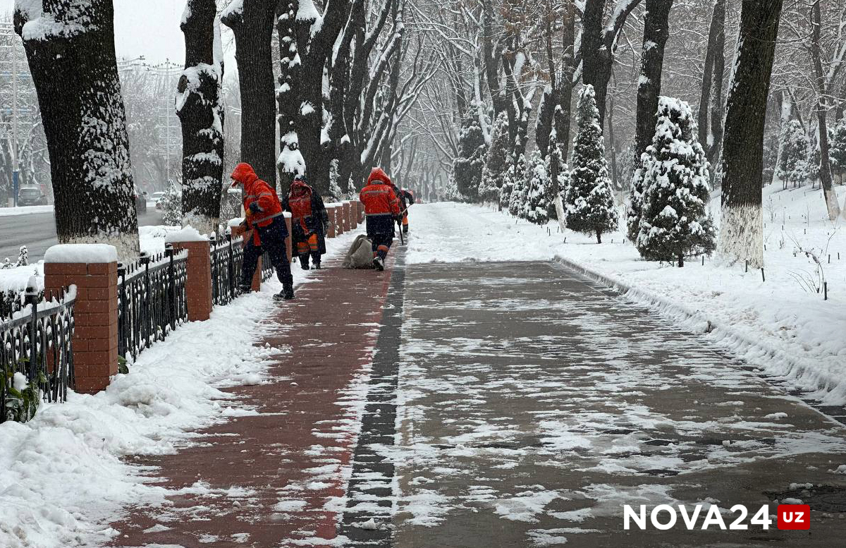
[[[148,206],[147,212],[138,218],[138,226],[162,224],[162,214]],[[30,262],[41,260],[51,245],[58,244],[56,222],[52,213],[29,213],[16,216],[0,216],[0,261],[18,257],[21,245],[30,253]]]

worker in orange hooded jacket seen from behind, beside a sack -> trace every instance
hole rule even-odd
[[[393,224],[400,219],[401,210],[393,183],[381,167],[373,168],[359,200],[365,206],[367,238],[373,244],[373,267],[383,271],[387,251],[393,243]]]

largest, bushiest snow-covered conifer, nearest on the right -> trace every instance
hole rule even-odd
[[[708,161],[695,134],[688,104],[659,97],[655,137],[641,156],[643,194],[634,244],[645,259],[684,266],[685,256],[711,253],[716,246]]]

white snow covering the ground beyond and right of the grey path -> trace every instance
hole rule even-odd
[[[843,203],[846,187],[838,195]],[[718,207],[717,197],[711,204],[717,223]],[[773,185],[765,189],[764,211],[766,282],[761,271],[745,272],[744,265],[717,258],[684,268],[640,260],[624,242],[623,227],[596,244],[592,236],[559,233],[557,224],[536,226],[492,208],[454,203],[412,208],[408,260],[570,261],[629,288],[629,299],[662,310],[685,329],[710,331],[707,337],[723,348],[771,375],[789,377],[822,402],[846,403],[844,222],[829,222],[821,191],[810,188]],[[814,289],[823,274],[827,301]]]

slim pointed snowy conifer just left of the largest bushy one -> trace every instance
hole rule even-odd
[[[619,214],[608,178],[605,144],[592,85],[585,85],[580,91],[576,122],[579,129],[573,140],[564,200],[567,227],[580,233],[596,234],[596,241],[602,243],[602,234],[617,228]]]

